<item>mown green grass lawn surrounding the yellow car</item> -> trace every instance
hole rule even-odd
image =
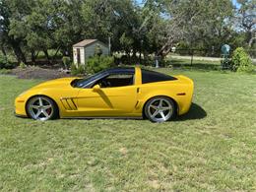
[[[190,112],[161,124],[17,118],[40,81],[0,76],[0,190],[255,191],[256,76],[160,71],[195,82]]]

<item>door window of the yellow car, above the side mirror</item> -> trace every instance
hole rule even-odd
[[[100,88],[116,88],[133,85],[132,74],[112,74],[96,82]]]

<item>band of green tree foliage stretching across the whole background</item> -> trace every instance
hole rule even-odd
[[[71,55],[85,38],[107,42],[127,55],[164,57],[172,46],[220,49],[253,46],[255,0],[0,0],[0,46],[18,62],[48,50]],[[29,57],[28,55],[31,55]],[[49,58],[48,58],[49,59]]]

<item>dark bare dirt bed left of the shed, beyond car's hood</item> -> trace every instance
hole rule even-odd
[[[16,75],[20,79],[57,79],[63,77],[70,77],[70,74],[67,74],[64,71],[58,69],[44,69],[40,67],[27,67],[22,69],[20,67],[13,69],[12,74]]]

